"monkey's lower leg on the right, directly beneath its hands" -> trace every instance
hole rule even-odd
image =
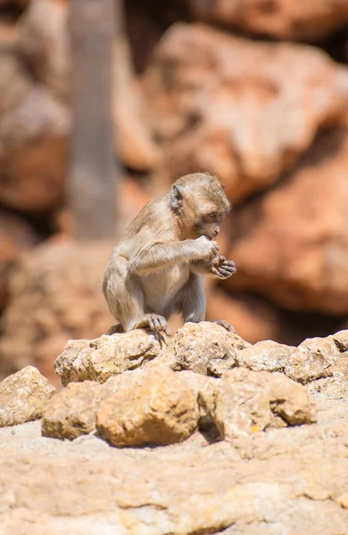
[[[188,282],[180,292],[180,304],[184,323],[198,323],[205,317],[205,293],[202,276],[191,273]]]

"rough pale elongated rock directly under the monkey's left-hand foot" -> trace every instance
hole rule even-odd
[[[98,381],[144,366],[157,357],[161,343],[151,332],[103,335],[95,340],[70,340],[54,363],[55,373],[65,386],[70,382]]]

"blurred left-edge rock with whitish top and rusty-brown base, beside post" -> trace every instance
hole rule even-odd
[[[53,210],[64,196],[67,108],[32,86],[0,119],[1,201],[29,213]]]

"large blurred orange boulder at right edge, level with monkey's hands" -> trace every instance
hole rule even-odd
[[[347,167],[348,129],[329,130],[282,184],[238,210],[228,252],[237,276],[226,285],[286,309],[347,314]]]

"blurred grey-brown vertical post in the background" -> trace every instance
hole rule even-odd
[[[79,239],[114,238],[114,0],[71,0],[70,205]]]

